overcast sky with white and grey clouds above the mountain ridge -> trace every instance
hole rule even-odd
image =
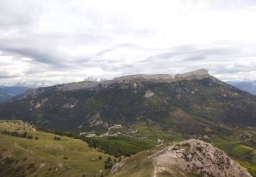
[[[256,80],[255,0],[0,0],[0,84],[205,68]]]

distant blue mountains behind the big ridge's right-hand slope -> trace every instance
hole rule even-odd
[[[240,88],[253,95],[256,95],[256,80],[253,81],[228,81],[227,83]]]

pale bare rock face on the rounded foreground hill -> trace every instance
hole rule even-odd
[[[152,155],[152,160],[154,174],[164,171],[172,174],[176,168],[200,176],[251,176],[222,150],[195,139],[168,146]]]

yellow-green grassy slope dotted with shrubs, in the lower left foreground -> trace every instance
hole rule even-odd
[[[34,131],[27,125],[16,124],[15,120],[0,120],[0,131],[3,130],[27,131],[33,137],[39,137],[39,140],[29,140],[0,134],[0,163],[5,157],[10,157],[14,161],[7,167],[13,167],[13,171],[18,170],[20,174],[25,171],[26,176],[100,176],[100,169],[104,174],[109,172],[104,170],[103,163],[109,155],[88,148],[87,143],[81,140],[61,137],[56,141],[54,134]],[[99,155],[102,156],[101,161],[98,160]]]

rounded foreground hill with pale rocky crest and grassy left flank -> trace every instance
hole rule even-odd
[[[200,140],[190,139],[159,146],[117,163],[112,176],[251,176],[225,152]]]

